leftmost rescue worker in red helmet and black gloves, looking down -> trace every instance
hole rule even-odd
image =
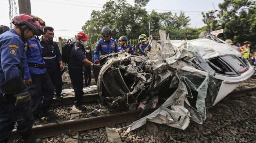
[[[43,30],[37,18],[20,14],[13,18],[15,27],[0,35],[0,143],[7,143],[17,123],[22,143],[40,143],[32,132],[34,123],[31,96],[23,81],[24,42]]]

